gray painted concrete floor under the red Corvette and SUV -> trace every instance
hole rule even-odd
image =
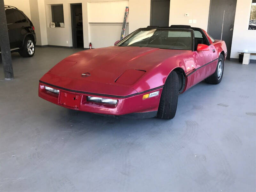
[[[37,96],[39,78],[77,51],[12,53],[12,81],[0,64],[0,191],[256,190],[256,64],[226,61],[222,82],[181,94],[172,120],[129,120]]]

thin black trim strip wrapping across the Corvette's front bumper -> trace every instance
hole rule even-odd
[[[40,81],[40,83],[43,83],[43,84],[46,84],[46,85],[49,85],[49,86],[52,86],[52,87],[55,87],[55,88],[59,88],[59,89],[62,89],[62,90],[65,90],[65,91],[70,91],[70,92],[75,92],[75,93],[83,93],[83,94],[89,94],[89,95],[98,95],[98,96],[106,96],[106,97],[115,97],[115,98],[127,98],[127,97],[132,97],[134,95],[139,95],[139,94],[142,94],[142,93],[146,93],[146,92],[150,92],[150,91],[154,91],[156,89],[160,89],[160,88],[163,88],[164,86],[159,86],[159,87],[156,87],[156,88],[153,88],[153,89],[149,89],[147,91],[143,91],[143,92],[139,92],[139,93],[134,93],[134,94],[131,94],[131,95],[126,95],[126,96],[117,96],[117,95],[107,95],[107,94],[100,94],[100,93],[90,93],[90,92],[84,92],[84,91],[76,91],[76,90],[71,90],[71,89],[66,89],[66,88],[63,88],[63,87],[59,87],[59,86],[56,86],[56,85],[52,85],[52,84],[49,84],[49,83],[45,83],[43,81]]]

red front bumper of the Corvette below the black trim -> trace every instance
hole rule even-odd
[[[49,92],[45,90],[44,86],[52,87],[54,89],[60,90],[59,94]],[[127,118],[146,118],[156,116],[158,110],[158,105],[160,101],[160,96],[162,93],[162,87],[149,90],[148,92],[138,93],[136,95],[128,97],[118,97],[118,96],[99,96],[99,94],[94,95],[93,93],[83,93],[79,91],[67,91],[65,88],[55,87],[54,85],[39,83],[38,96],[50,101],[56,105],[70,108],[79,111],[85,111],[90,113],[113,115],[113,116],[123,116]],[[151,92],[159,91],[159,95],[147,99],[142,99],[143,95]],[[103,97],[108,99],[118,100],[116,105],[99,103],[88,101],[87,96],[93,97]],[[140,113],[140,114],[139,114]],[[127,115],[129,114],[129,115]]]

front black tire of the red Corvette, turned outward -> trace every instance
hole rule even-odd
[[[176,114],[179,94],[179,79],[175,71],[167,77],[160,98],[157,118],[172,119]]]

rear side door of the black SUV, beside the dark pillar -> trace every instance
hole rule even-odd
[[[17,42],[16,26],[15,26],[16,17],[13,13],[13,9],[6,9],[5,15],[6,15],[8,34],[9,34],[10,48],[13,49],[13,48],[16,48],[16,42]]]

